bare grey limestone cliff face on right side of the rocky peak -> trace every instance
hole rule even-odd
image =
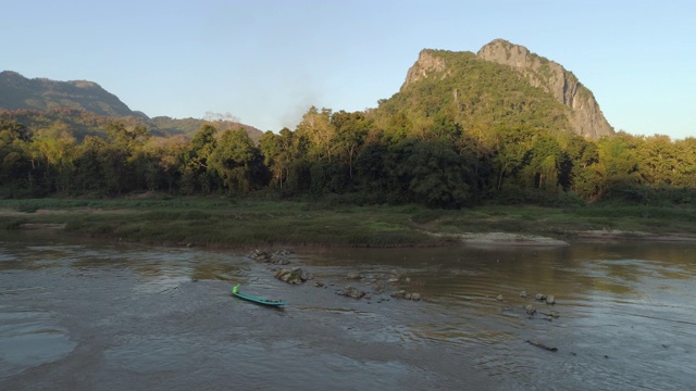
[[[476,55],[482,60],[512,67],[532,86],[546,90],[557,101],[572,109],[569,121],[575,134],[592,139],[613,134],[613,128],[601,113],[592,91],[560,64],[504,39],[496,39],[484,46]]]

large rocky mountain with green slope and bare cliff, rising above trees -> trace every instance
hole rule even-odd
[[[527,127],[589,139],[613,134],[592,92],[559,64],[505,40],[478,53],[424,49],[378,112],[411,123],[446,117],[463,130]]]

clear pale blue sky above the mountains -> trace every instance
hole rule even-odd
[[[694,0],[0,0],[0,71],[90,80],[148,116],[295,129],[398,92],[422,49],[496,38],[563,65],[616,130],[696,137]]]

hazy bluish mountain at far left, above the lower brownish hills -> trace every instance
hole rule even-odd
[[[105,116],[146,117],[94,81],[28,79],[16,72],[0,73],[0,108],[8,110],[74,109]]]

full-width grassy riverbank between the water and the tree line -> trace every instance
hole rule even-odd
[[[587,231],[629,238],[641,232],[696,238],[696,210],[592,205],[445,211],[415,205],[334,206],[217,198],[0,200],[0,228],[40,227],[158,244],[444,245],[458,242],[463,234],[500,231],[556,239]]]

